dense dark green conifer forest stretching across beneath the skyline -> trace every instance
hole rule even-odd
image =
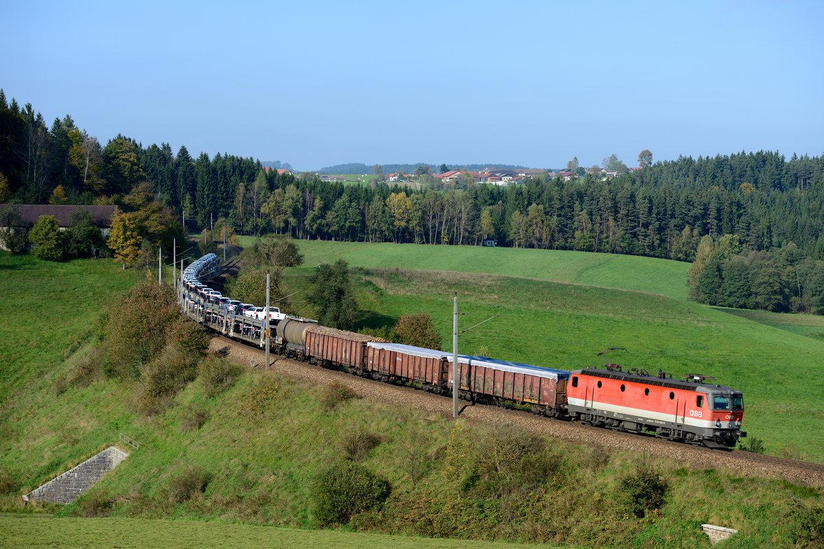
[[[421,170],[426,171],[426,170]],[[229,154],[192,156],[118,135],[105,146],[70,116],[47,126],[0,91],[0,202],[119,203],[148,182],[190,230],[497,245],[692,262],[714,305],[824,312],[824,161],[778,151],[658,161],[613,179],[534,177],[494,186],[428,174],[403,186],[279,174]]]

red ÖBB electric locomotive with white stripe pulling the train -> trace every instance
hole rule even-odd
[[[710,448],[732,449],[738,437],[747,436],[741,430],[741,391],[704,383],[702,375],[681,381],[607,368],[571,372],[567,406],[573,419],[616,430],[652,430],[664,439]]]

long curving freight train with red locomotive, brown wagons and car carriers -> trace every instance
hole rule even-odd
[[[207,328],[311,364],[355,375],[407,384],[433,393],[452,393],[452,354],[445,351],[384,342],[361,333],[326,328],[315,321],[285,316],[255,318],[236,301],[222,298],[202,282],[217,272],[218,258],[208,254],[182,276],[178,299],[190,318]],[[271,333],[274,327],[274,334]],[[471,402],[527,409],[544,416],[581,421],[592,426],[635,433],[710,448],[733,449],[741,430],[741,391],[705,383],[702,375],[686,379],[645,370],[555,370],[499,361],[487,356],[458,355],[460,398]]]

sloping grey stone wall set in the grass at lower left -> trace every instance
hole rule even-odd
[[[123,450],[110,446],[93,458],[78,465],[76,468],[54,477],[40,488],[30,491],[23,496],[28,500],[43,500],[54,503],[72,503],[79,495],[87,491],[105,473],[114,469],[118,463],[127,458]]]

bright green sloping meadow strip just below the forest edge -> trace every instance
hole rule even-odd
[[[241,236],[241,244],[255,241]],[[485,272],[507,277],[644,291],[686,300],[689,263],[616,254],[564,250],[427,246],[299,240],[305,265],[344,258],[353,267]]]

